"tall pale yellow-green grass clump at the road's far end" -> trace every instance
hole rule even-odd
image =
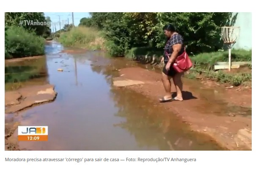
[[[61,34],[59,42],[68,47],[81,47],[88,49],[104,49],[104,39],[96,29],[88,27],[75,27]]]

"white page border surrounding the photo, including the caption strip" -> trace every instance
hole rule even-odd
[[[169,0],[94,0],[94,1],[52,1],[44,0],[42,2],[37,2],[35,0],[11,0],[11,1],[1,1],[1,6],[4,11],[7,12],[28,12],[28,11],[44,11],[44,12],[67,12],[67,11],[96,11],[96,12],[252,12],[255,10],[253,8],[253,1],[242,0],[242,1],[226,1],[226,0],[213,0],[213,1],[201,1],[201,0],[183,0],[183,1],[169,1]],[[173,6],[177,8],[173,8]],[[230,11],[229,11],[230,10]],[[2,13],[3,14],[3,13]],[[255,20],[255,13],[253,18]],[[3,23],[3,16],[0,18]],[[252,27],[255,28],[255,22],[253,20]],[[255,29],[252,29],[255,30]],[[4,50],[3,44],[3,26],[1,35],[1,48]],[[253,37],[255,36],[252,32]],[[253,44],[255,43],[255,38],[252,38]],[[2,53],[3,54],[3,53]],[[254,53],[253,53],[254,54]],[[4,57],[1,57],[4,60]],[[253,59],[253,65],[254,65]],[[4,63],[4,62],[1,62]],[[4,66],[1,67],[4,72]],[[252,71],[253,72],[253,71]],[[3,74],[0,80],[4,80]],[[255,75],[255,74],[253,74]],[[254,80],[254,78],[253,78]],[[2,83],[3,85],[4,83]],[[2,86],[3,87],[3,86]],[[4,91],[4,89],[2,89]],[[2,92],[3,92],[2,91]],[[255,95],[252,95],[255,98]],[[4,99],[1,98],[1,106],[4,106]],[[254,101],[254,99],[252,100]],[[2,109],[4,110],[4,109]],[[3,116],[4,114],[2,114]],[[4,119],[1,120],[2,130],[0,131],[0,136],[4,133]],[[255,116],[253,115],[253,122],[255,123]],[[255,126],[253,126],[253,133]],[[3,138],[2,138],[3,139]],[[253,135],[253,142],[255,141],[255,135]],[[255,142],[252,143],[253,149],[255,148]],[[255,167],[255,151],[4,151],[4,142],[0,140],[1,149],[1,167],[3,165],[8,166],[11,169],[26,169],[26,170],[41,170],[41,169],[52,169],[55,165],[59,167],[66,168],[79,168],[79,169],[124,169],[130,170],[132,167],[135,170],[139,169],[214,169],[218,167],[220,169],[252,169],[252,165]],[[163,158],[163,157],[180,157],[180,158],[196,158],[196,162],[5,162],[5,157],[11,158],[120,158],[125,159],[126,157],[143,157],[143,158]],[[254,160],[254,162],[253,162]],[[3,164],[2,164],[3,163]],[[33,166],[26,166],[33,165]],[[107,165],[107,166],[106,166]],[[110,167],[108,167],[110,165]],[[24,167],[21,167],[24,166]]]

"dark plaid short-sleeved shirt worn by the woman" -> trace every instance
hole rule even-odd
[[[164,53],[164,62],[165,64],[168,62],[169,58],[168,56],[171,56],[173,53],[173,48],[172,46],[175,44],[181,44],[182,45],[182,50],[180,50],[178,55],[181,55],[184,52],[184,44],[183,44],[183,37],[179,34],[174,34],[171,36],[171,38],[168,40],[168,42],[165,45],[165,53]],[[168,53],[168,55],[166,54]]]

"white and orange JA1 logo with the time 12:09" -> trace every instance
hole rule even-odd
[[[19,141],[48,141],[48,126],[18,126]]]

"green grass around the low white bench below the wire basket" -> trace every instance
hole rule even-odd
[[[228,61],[228,51],[222,52],[212,52],[212,53],[201,53],[195,56],[190,56],[194,63],[193,69],[191,69],[190,74],[186,74],[187,78],[195,78],[196,74],[203,74],[211,80],[215,80],[220,83],[229,83],[234,86],[241,85],[245,82],[250,82],[252,80],[251,73],[228,73],[219,70],[217,72],[213,71],[214,64],[218,61],[227,62]],[[232,50],[231,51],[231,61],[251,61],[252,51],[249,50]],[[251,69],[251,66],[249,66]]]

